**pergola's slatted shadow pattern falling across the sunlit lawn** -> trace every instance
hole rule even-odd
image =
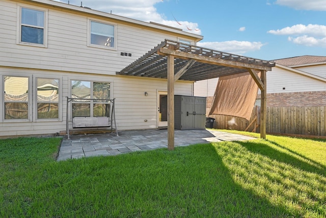
[[[271,148],[268,141],[216,144],[234,183],[294,217],[325,215],[325,168]],[[284,217],[286,215],[271,215]]]

